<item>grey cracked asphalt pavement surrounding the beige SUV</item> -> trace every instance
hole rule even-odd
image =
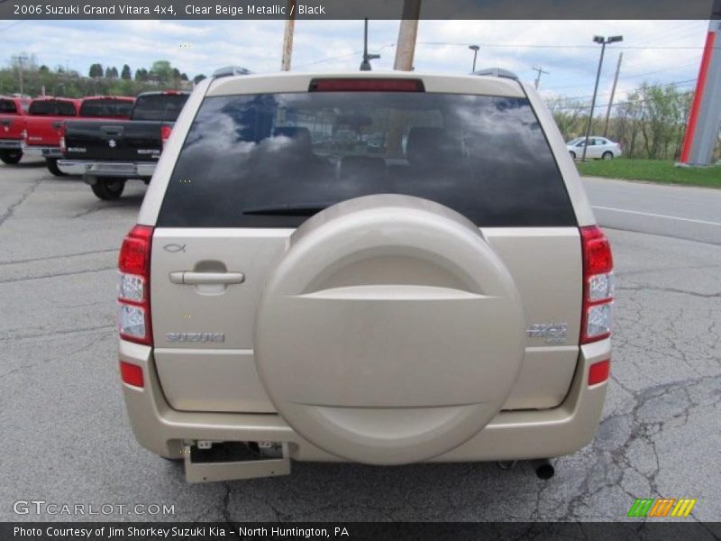
[[[613,379],[596,440],[556,460],[551,481],[525,463],[294,463],[287,477],[190,485],[135,443],[118,383],[115,260],[145,187],[103,202],[41,162],[0,166],[0,520],[68,518],[14,514],[14,501],[31,499],[175,506],[85,519],[625,520],[636,498],[657,497],[697,499],[689,519],[717,520],[721,229],[679,221],[664,233],[663,218],[654,228],[643,213],[665,211],[635,207],[637,190],[589,184],[595,206],[641,214],[598,211],[616,258]],[[644,193],[645,205],[721,201],[694,188]]]

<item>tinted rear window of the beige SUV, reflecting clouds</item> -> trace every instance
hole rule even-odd
[[[525,98],[403,92],[205,98],[158,225],[296,227],[380,193],[431,199],[479,226],[576,225]]]

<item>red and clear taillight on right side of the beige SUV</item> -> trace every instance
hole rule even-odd
[[[611,335],[614,296],[614,260],[611,245],[598,225],[580,228],[583,250],[583,312],[580,343],[589,344]]]

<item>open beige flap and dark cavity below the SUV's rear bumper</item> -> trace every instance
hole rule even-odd
[[[207,442],[198,442],[194,445],[187,442],[183,445],[183,455],[186,464],[186,479],[188,482],[233,481],[241,479],[254,479],[256,477],[274,477],[290,473],[290,455],[287,443],[278,444],[278,457],[268,458],[260,452],[253,452],[251,446],[224,442],[208,445]],[[237,453],[241,445],[245,452]],[[221,453],[212,453],[214,456],[203,456],[206,451],[221,449]],[[267,449],[268,446],[254,445],[255,449]],[[227,452],[230,448],[230,453]],[[221,456],[219,456],[221,455]],[[207,462],[205,462],[207,460]]]

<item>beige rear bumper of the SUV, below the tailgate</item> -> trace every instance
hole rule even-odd
[[[610,340],[581,347],[568,396],[558,408],[502,411],[477,436],[430,462],[525,460],[570,454],[596,434],[607,382],[587,384],[589,366],[610,358]],[[278,442],[298,461],[343,462],[299,436],[277,414],[181,412],[160,389],[149,346],[120,342],[120,360],[140,365],[145,387],[123,383],[125,405],[138,442],[156,454],[179,458],[184,440]]]

